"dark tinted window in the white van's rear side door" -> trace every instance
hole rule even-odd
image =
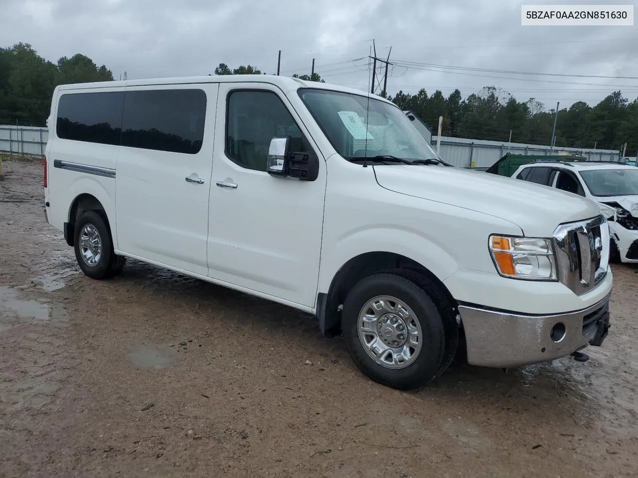
[[[204,141],[202,90],[127,91],[122,146],[197,154]]]

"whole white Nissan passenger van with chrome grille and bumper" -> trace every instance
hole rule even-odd
[[[520,366],[607,335],[598,206],[446,166],[378,96],[267,75],[85,83],[56,88],[48,125],[47,220],[94,279],[133,257],[316,314],[399,389],[457,351]]]

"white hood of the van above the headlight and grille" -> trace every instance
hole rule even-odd
[[[385,189],[500,217],[530,237],[551,237],[559,224],[600,214],[590,199],[483,171],[410,164],[374,168]]]

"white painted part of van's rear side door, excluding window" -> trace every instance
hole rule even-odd
[[[193,88],[170,85],[170,89]],[[219,85],[196,85],[206,94],[205,134],[197,154],[121,147],[117,158],[117,249],[208,275],[206,239],[211,150]],[[168,86],[128,87],[126,91]],[[223,138],[222,138],[223,143]],[[187,182],[186,177],[204,182]]]

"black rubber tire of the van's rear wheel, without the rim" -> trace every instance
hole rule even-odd
[[[101,256],[94,265],[85,261],[82,255],[82,245],[80,244],[82,230],[84,226],[87,225],[93,226],[93,228],[96,229],[101,244]],[[126,263],[126,257],[117,256],[115,254],[113,250],[113,240],[104,214],[100,214],[100,212],[97,211],[83,212],[75,222],[74,232],[75,238],[73,238],[73,243],[75,244],[75,259],[85,275],[91,277],[91,279],[101,280],[110,279],[122,272],[122,268],[124,268],[124,264]]]

